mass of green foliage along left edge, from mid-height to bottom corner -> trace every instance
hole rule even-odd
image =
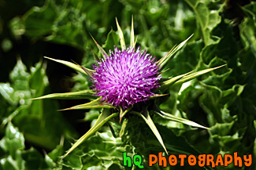
[[[1,100],[5,104],[1,107],[1,132],[5,131],[0,141],[2,169],[54,168],[54,161],[43,157],[34,147],[25,150],[24,142],[54,150],[61,136],[73,132],[56,112],[58,103],[31,100],[42,96],[48,85],[45,67],[37,63],[28,72],[21,60],[17,60],[10,73],[10,83],[0,84]]]

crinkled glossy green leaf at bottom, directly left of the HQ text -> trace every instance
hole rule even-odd
[[[72,169],[111,169],[113,165],[121,165],[126,148],[122,145],[121,138],[116,138],[111,132],[96,132],[95,135],[83,142],[76,150],[73,150],[63,164]],[[82,163],[83,162],[83,163]]]

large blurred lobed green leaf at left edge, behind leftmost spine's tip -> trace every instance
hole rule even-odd
[[[75,137],[76,132],[72,131],[73,128],[57,112],[57,101],[31,100],[48,90],[45,66],[42,62],[36,63],[28,72],[24,63],[17,60],[17,65],[10,74],[11,82],[0,84],[1,107],[6,107],[4,112],[1,109],[0,119],[2,127],[8,122],[16,125],[27,143],[53,150],[58,145],[60,136],[72,134]],[[5,104],[7,101],[9,103]]]

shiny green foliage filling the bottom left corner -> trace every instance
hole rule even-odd
[[[1,167],[9,170],[51,169],[55,163],[43,157],[35,148],[25,149],[24,136],[12,123],[6,126],[6,136],[1,139]]]

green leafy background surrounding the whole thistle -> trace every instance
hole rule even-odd
[[[124,131],[113,120],[60,160],[100,110],[58,111],[86,99],[32,100],[89,89],[87,78],[43,56],[91,67],[98,50],[90,34],[106,51],[113,49],[119,45],[115,17],[128,40],[132,16],[137,45],[157,59],[194,34],[166,65],[165,77],[227,64],[158,101],[162,110],[211,128],[155,116],[167,150],[252,154],[250,167],[213,169],[255,169],[256,3],[250,0],[0,0],[0,169],[124,169],[124,151],[143,155],[149,168],[148,154],[163,150],[147,125],[129,115]]]

